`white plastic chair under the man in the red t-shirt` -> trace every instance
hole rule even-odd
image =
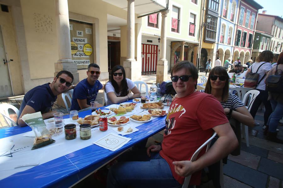
[[[215,136],[216,136],[216,132],[214,132],[213,135],[212,135],[210,138],[208,138],[208,140],[207,140],[205,143],[203,143],[203,145],[201,145],[201,146],[197,149],[197,151],[195,151],[195,153],[191,156],[191,161],[195,161],[195,160],[197,159],[197,156],[198,156],[199,152],[200,152],[205,146],[207,146],[205,152],[208,151],[209,146],[210,146],[210,143],[211,143],[211,140],[212,140]],[[222,174],[221,174],[221,173],[222,173]],[[221,176],[222,176],[222,177],[221,177]],[[191,175],[185,177],[185,181],[184,181],[184,183],[183,183],[182,188],[187,188],[188,185],[189,185],[189,183],[190,183],[190,180],[191,180]],[[222,180],[222,182],[221,182],[221,180]],[[224,185],[223,185],[223,166],[222,166],[222,160],[220,161],[220,185],[221,185],[221,187],[224,187]]]

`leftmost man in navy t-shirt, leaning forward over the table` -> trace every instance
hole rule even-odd
[[[67,70],[61,70],[53,78],[52,83],[36,86],[25,94],[24,100],[19,109],[17,124],[21,127],[27,124],[20,118],[25,114],[41,112],[43,119],[52,118],[56,111],[52,111],[52,106],[57,99],[57,95],[67,91],[72,85],[74,76]]]

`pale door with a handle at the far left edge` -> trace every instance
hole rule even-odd
[[[2,29],[0,26],[0,97],[12,95],[12,88],[8,70],[8,64],[6,62],[6,53],[4,48]]]

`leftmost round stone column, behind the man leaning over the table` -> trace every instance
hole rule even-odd
[[[56,26],[58,39],[58,56],[59,60],[55,63],[55,73],[57,75],[61,70],[68,70],[74,76],[73,83],[79,82],[79,73],[77,64],[71,58],[71,41],[70,41],[70,24],[69,10],[67,0],[55,0],[56,9]],[[57,98],[57,104],[64,107],[61,96]]]

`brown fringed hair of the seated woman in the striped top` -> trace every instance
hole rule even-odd
[[[224,75],[227,76],[225,86],[222,91],[222,101],[226,102],[229,97],[229,75],[226,71],[226,69],[222,66],[216,66],[213,69],[210,70],[209,75],[208,75],[208,80],[205,86],[205,93],[211,94],[211,81],[210,81],[210,75]]]

